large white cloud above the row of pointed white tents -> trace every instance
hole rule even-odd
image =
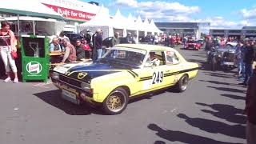
[[[122,6],[137,10],[142,17],[152,18],[156,21],[186,22],[190,14],[200,11],[198,6],[185,6],[178,2],[138,2],[136,0],[116,0],[113,6]]]

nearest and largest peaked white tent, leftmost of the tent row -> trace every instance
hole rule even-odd
[[[107,38],[114,35],[112,24],[109,10],[104,9],[104,6],[102,6],[94,18],[78,26],[78,32],[82,31],[85,33],[86,30],[94,32],[97,29],[101,29],[103,31],[102,38]]]

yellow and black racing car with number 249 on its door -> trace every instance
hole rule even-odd
[[[106,114],[120,114],[134,96],[169,87],[186,90],[197,73],[197,63],[186,62],[170,47],[122,44],[96,62],[55,66],[50,77],[62,90],[62,98],[102,106]]]

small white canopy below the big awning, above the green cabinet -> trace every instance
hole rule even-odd
[[[6,21],[9,22],[17,22],[18,21],[18,17],[8,17],[5,18]],[[26,16],[21,16],[19,17],[19,20],[22,21],[20,22],[21,24],[25,24],[24,25],[24,29],[22,29],[23,33],[33,33],[36,34],[36,29],[38,30],[37,33],[38,35],[42,34],[42,35],[57,35],[59,34],[66,22],[59,22],[56,19],[52,19],[52,18],[38,18],[38,17],[26,17]],[[32,24],[31,24],[32,23]],[[33,26],[33,31],[30,31],[30,27]],[[16,27],[15,27],[16,29]],[[17,29],[16,29],[17,30]]]

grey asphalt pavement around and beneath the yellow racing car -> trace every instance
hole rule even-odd
[[[237,86],[234,70],[212,72],[205,51],[179,51],[201,66],[188,89],[135,99],[118,115],[66,102],[50,82],[0,80],[0,143],[245,143],[246,87]]]

